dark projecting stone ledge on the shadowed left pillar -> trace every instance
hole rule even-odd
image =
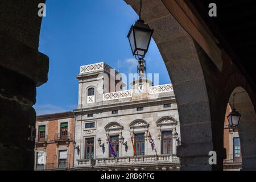
[[[40,86],[48,80],[48,56],[0,31],[0,65],[30,78]]]

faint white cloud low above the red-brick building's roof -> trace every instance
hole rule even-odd
[[[61,112],[67,111],[63,109],[63,107],[52,105],[52,104],[36,104],[34,106],[34,109],[36,110],[36,115],[61,113]]]

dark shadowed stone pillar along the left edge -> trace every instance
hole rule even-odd
[[[47,81],[48,57],[38,52],[38,4],[0,2],[0,169],[34,169],[36,86]]]

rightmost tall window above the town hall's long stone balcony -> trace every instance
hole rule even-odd
[[[172,131],[162,131],[162,154],[172,154]]]

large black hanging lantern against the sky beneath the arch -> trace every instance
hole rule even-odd
[[[131,51],[135,58],[138,60],[138,72],[139,76],[144,76],[144,71],[146,71],[146,61],[144,57],[148,51],[150,45],[150,40],[154,30],[152,30],[144,21],[141,19],[141,8],[139,10],[139,19],[131,26],[130,31],[127,35],[129,39]]]

